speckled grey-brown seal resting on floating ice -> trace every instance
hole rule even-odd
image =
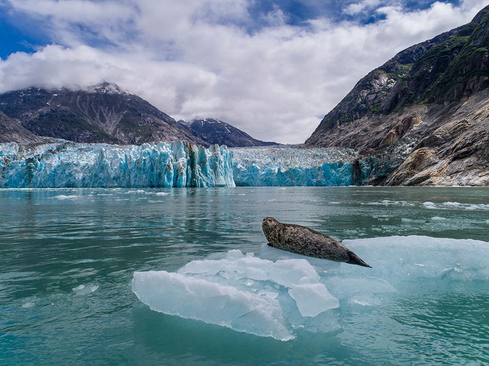
[[[354,252],[331,236],[321,234],[309,227],[279,223],[273,217],[262,221],[262,229],[269,246],[308,257],[329,259],[335,262],[370,267]]]

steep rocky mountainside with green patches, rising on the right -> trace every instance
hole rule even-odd
[[[489,185],[488,12],[371,71],[306,145],[372,156],[370,184]]]

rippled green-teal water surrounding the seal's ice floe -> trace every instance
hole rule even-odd
[[[399,282],[373,306],[328,310],[336,330],[298,330],[288,342],[164,315],[131,291],[134,271],[177,271],[231,249],[258,254],[265,216],[339,240],[489,242],[489,189],[0,190],[0,365],[489,363],[487,279]]]

